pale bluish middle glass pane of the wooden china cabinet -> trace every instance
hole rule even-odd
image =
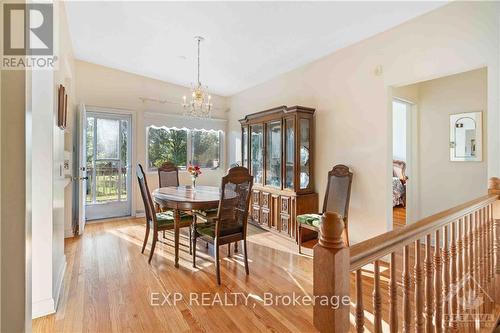
[[[281,187],[281,121],[267,124],[266,185]]]

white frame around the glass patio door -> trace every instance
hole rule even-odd
[[[137,113],[134,110],[120,109],[120,108],[107,108],[101,106],[85,106],[87,114],[115,114],[121,116],[130,116],[130,216],[135,216],[136,211],[136,192],[137,186],[135,186],[135,172],[136,172],[136,162],[137,162],[137,149],[136,149],[136,138],[137,138]],[[87,223],[100,222],[100,220],[90,220]]]

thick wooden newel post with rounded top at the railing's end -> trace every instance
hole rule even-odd
[[[349,331],[349,248],[344,245],[344,222],[337,213],[324,213],[314,247],[313,322],[320,332]]]

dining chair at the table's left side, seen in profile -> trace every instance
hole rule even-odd
[[[144,249],[146,248],[146,244],[148,242],[150,229],[153,230],[153,242],[151,244],[151,250],[149,253],[148,262],[151,263],[151,259],[153,258],[153,253],[155,251],[156,242],[158,241],[158,232],[165,230],[173,230],[174,229],[174,212],[166,211],[166,212],[156,212],[153,206],[153,200],[151,199],[151,192],[148,188],[148,182],[146,180],[146,175],[144,174],[144,170],[142,165],[137,164],[137,180],[139,182],[139,189],[141,190],[142,201],[144,202],[144,211],[146,213],[146,235],[144,236],[144,243],[142,244],[142,251],[144,253]],[[188,228],[189,229],[189,239],[191,239],[191,222],[192,217],[186,214],[181,214],[180,216],[180,225],[179,228]],[[178,245],[174,245],[178,246]],[[191,254],[191,242],[189,242],[189,254]]]

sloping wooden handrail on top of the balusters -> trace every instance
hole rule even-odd
[[[454,208],[424,218],[403,228],[386,232],[350,247],[350,271],[383,258],[403,246],[424,237],[439,228],[498,200],[497,194],[489,194]]]

